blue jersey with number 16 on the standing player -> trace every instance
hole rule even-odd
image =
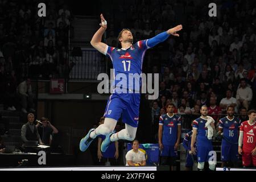
[[[238,132],[239,127],[241,125],[241,120],[233,117],[230,120],[228,117],[221,118],[218,122],[218,127],[223,129],[223,136],[231,143],[238,142]],[[225,139],[222,139],[222,144],[231,144],[227,142]]]

